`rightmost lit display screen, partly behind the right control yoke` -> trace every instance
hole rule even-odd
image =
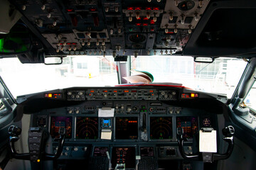
[[[177,128],[183,128],[183,137],[192,139],[198,131],[198,120],[193,116],[183,116],[176,118]]]

